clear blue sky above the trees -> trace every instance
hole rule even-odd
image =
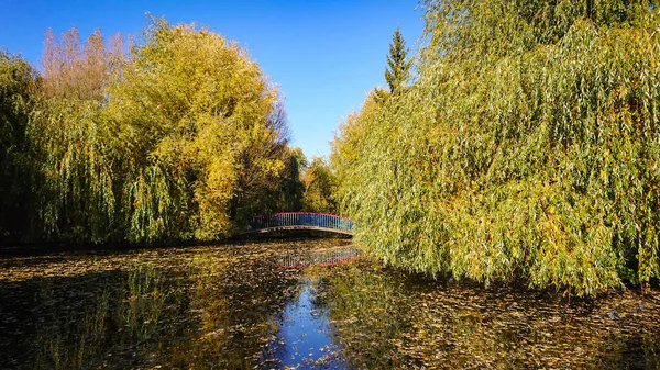
[[[413,49],[424,21],[416,0],[50,1],[0,0],[0,47],[38,66],[44,31],[81,37],[139,33],[145,13],[196,22],[239,42],[286,96],[294,146],[328,155],[342,117],[384,86],[392,33]]]

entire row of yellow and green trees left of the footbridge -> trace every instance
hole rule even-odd
[[[330,210],[304,201],[305,166],[275,86],[207,29],[48,31],[38,71],[0,52],[0,243],[217,239]]]

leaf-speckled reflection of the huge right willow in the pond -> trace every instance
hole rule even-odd
[[[326,300],[356,368],[660,367],[660,296],[568,303],[506,288],[439,287],[374,265],[336,269]]]

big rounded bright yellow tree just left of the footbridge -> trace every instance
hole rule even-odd
[[[153,19],[108,90],[129,238],[226,236],[284,170],[278,94],[245,49]]]

